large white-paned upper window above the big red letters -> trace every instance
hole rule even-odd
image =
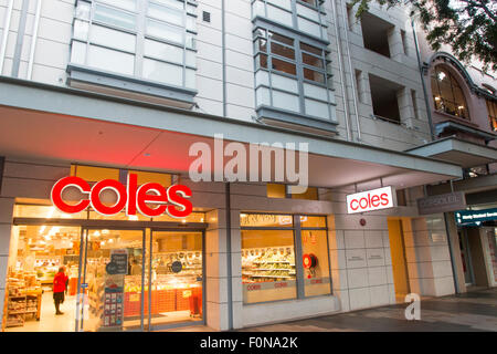
[[[194,88],[194,12],[186,0],[78,0],[71,64]]]

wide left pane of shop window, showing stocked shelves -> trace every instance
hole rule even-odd
[[[295,299],[294,232],[242,230],[242,282],[245,303]]]

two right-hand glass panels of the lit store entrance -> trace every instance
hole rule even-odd
[[[83,229],[76,331],[202,322],[203,232]]]

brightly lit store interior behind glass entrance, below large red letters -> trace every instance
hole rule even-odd
[[[202,232],[14,226],[2,330],[126,331],[201,321],[202,242]],[[126,266],[109,273],[116,252],[126,254]],[[61,267],[68,281],[56,315],[52,289]]]

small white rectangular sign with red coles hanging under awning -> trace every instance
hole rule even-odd
[[[383,187],[347,196],[347,212],[363,212],[396,206],[393,188]]]

